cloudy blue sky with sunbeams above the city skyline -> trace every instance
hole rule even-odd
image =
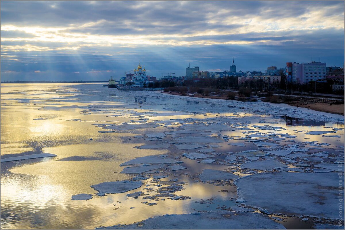
[[[344,65],[344,1],[1,1],[1,81]]]

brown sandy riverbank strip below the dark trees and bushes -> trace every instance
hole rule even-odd
[[[210,94],[208,96],[199,94],[199,93],[194,93],[194,94],[184,94],[184,93],[179,93],[179,92],[162,92],[162,93],[171,94],[171,95],[179,95],[179,96],[229,100],[227,94],[225,93],[215,93],[215,94]],[[257,100],[262,100],[262,99],[263,98],[250,97],[248,98],[248,101],[255,102]],[[294,101],[287,101],[287,102],[280,100],[280,103],[292,105],[295,107],[308,108],[314,111],[340,114],[340,115],[344,115],[344,109],[345,109],[344,104],[331,104],[331,103],[324,103],[324,102],[306,103],[300,100],[299,98],[296,98],[296,100]]]

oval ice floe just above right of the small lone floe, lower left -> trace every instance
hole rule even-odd
[[[90,187],[98,192],[103,193],[122,193],[139,188],[142,185],[141,181],[110,181],[103,182],[97,185],[91,185]]]

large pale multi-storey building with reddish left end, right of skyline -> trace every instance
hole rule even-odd
[[[286,77],[288,81],[300,84],[326,79],[326,63],[287,62]]]

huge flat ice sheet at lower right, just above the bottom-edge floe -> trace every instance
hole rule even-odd
[[[336,172],[264,172],[239,178],[235,184],[238,196],[246,199],[248,206],[272,213],[339,219],[339,210],[334,207],[339,202],[339,186],[344,184],[339,185]]]

